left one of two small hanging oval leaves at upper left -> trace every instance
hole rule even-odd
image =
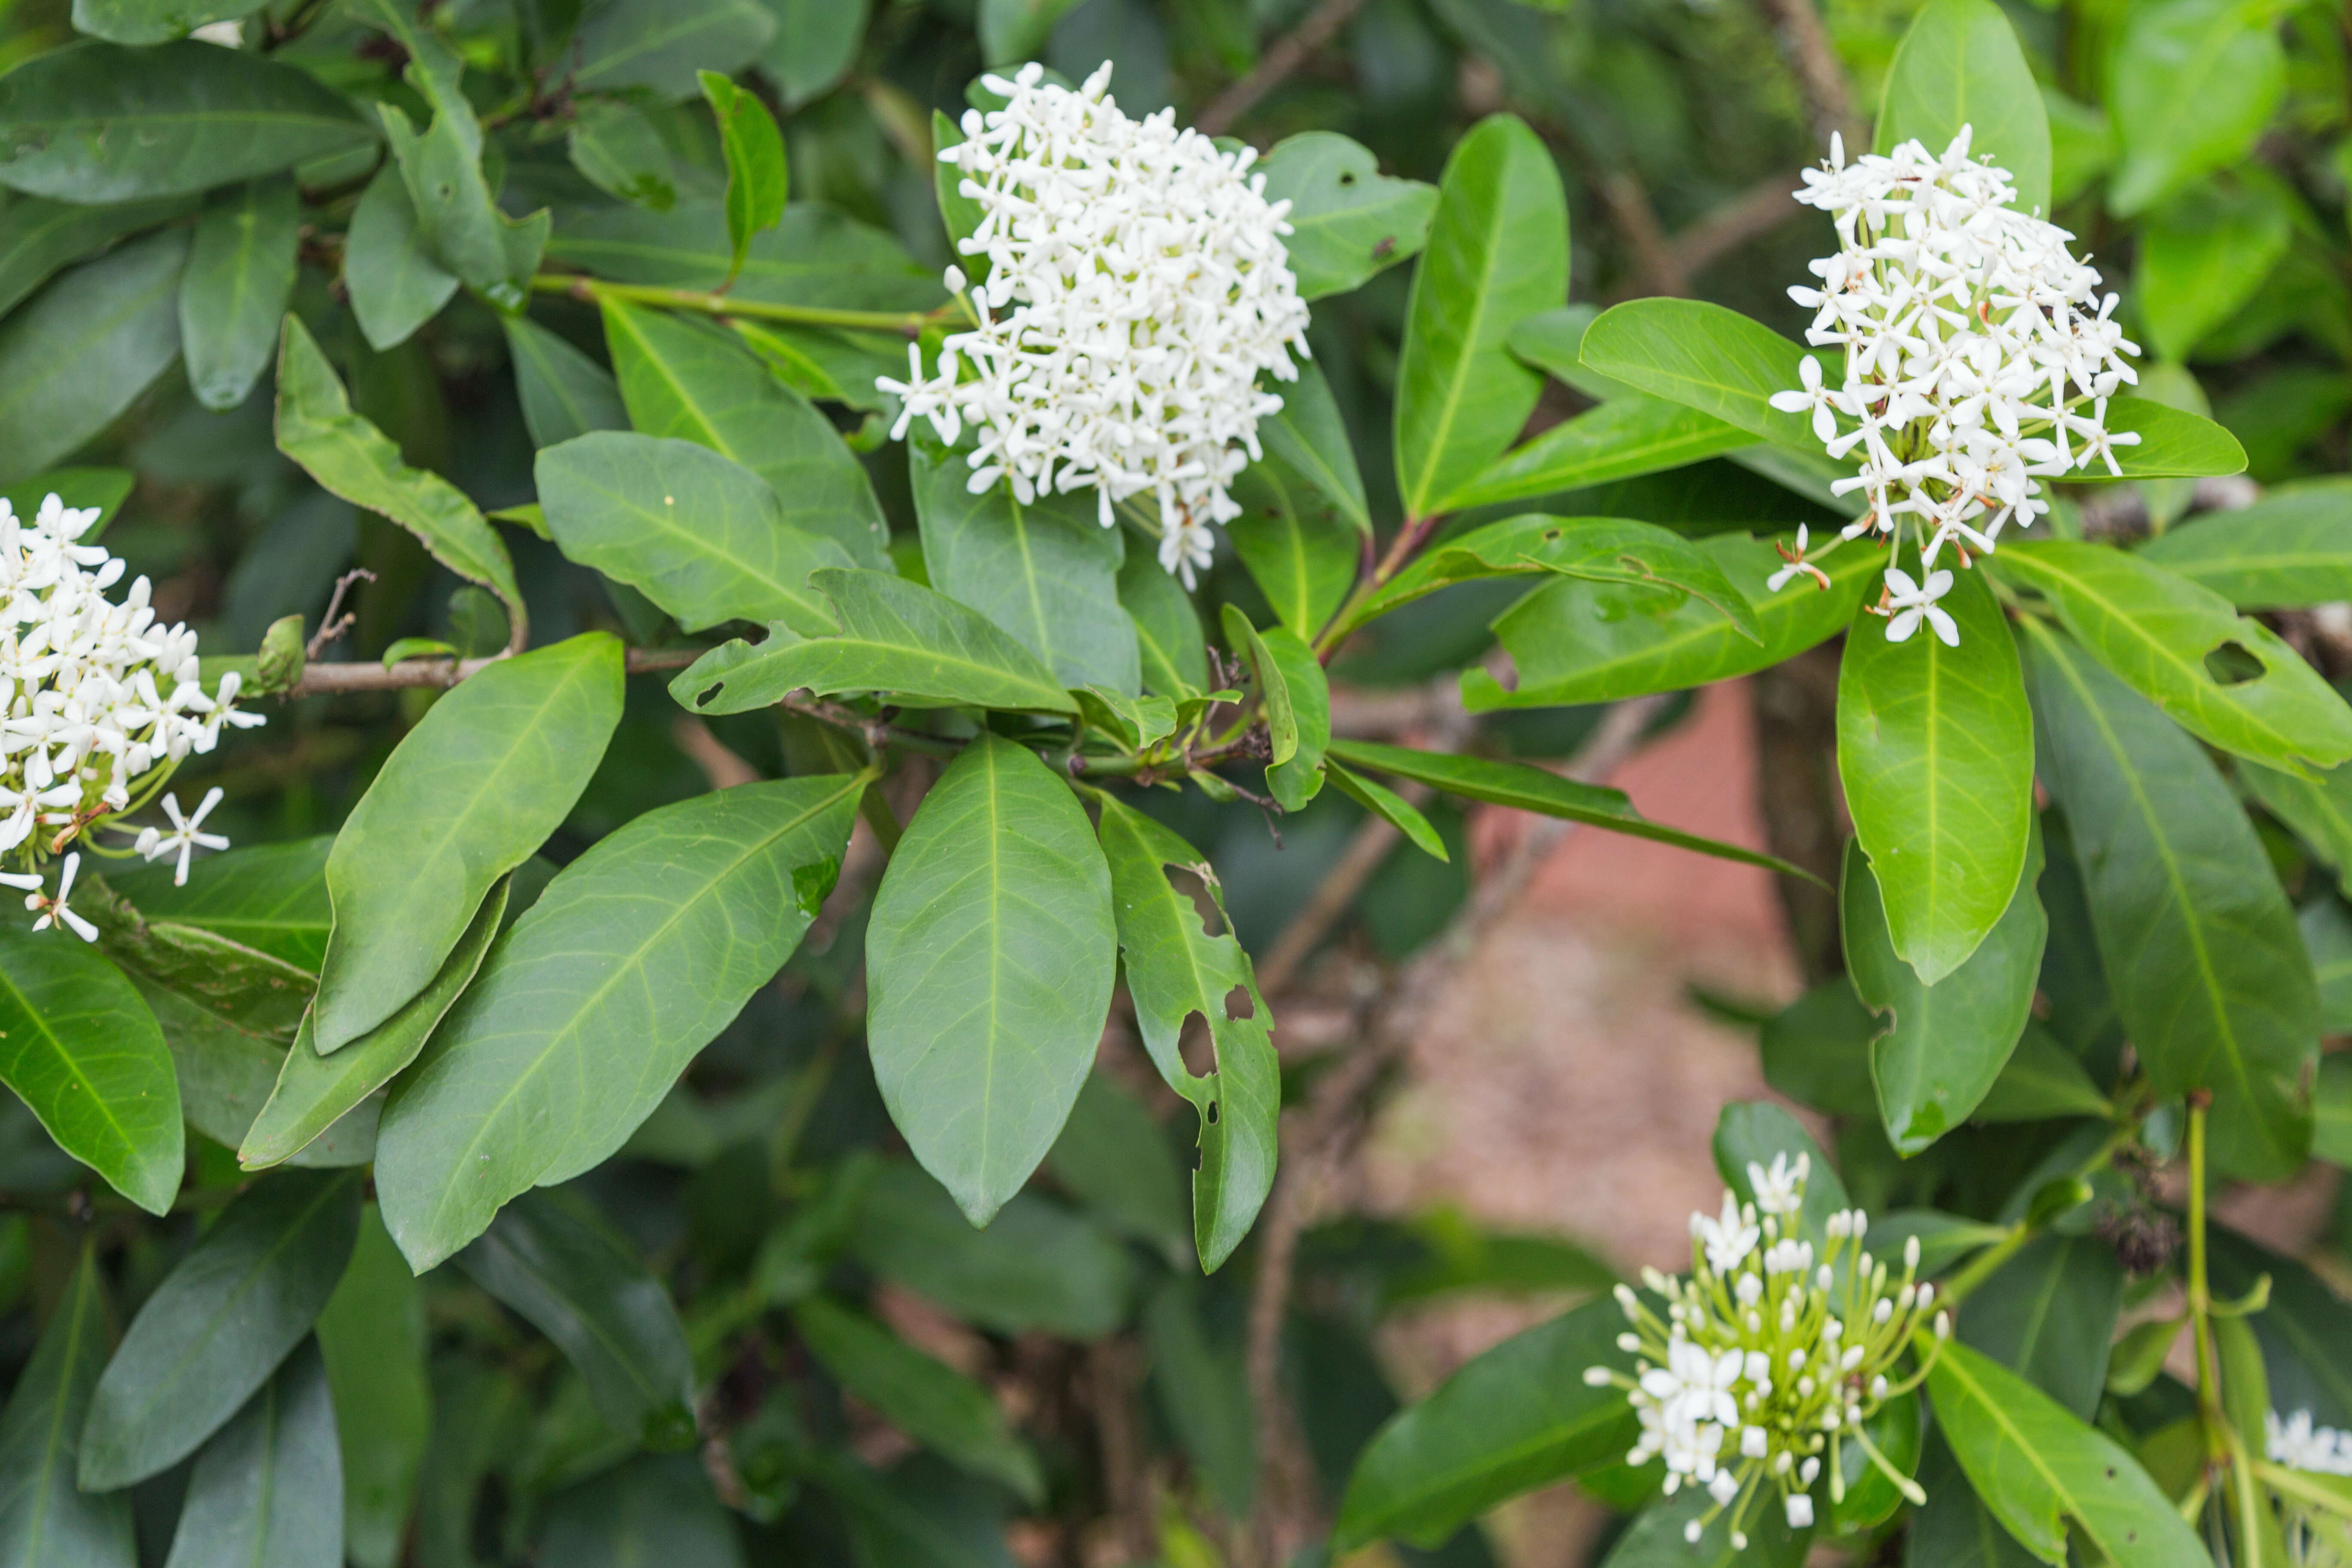
[[[299,228],[292,179],[226,186],[205,202],[179,280],[179,341],[188,386],[207,409],[238,407],[268,369],[294,296]]]

